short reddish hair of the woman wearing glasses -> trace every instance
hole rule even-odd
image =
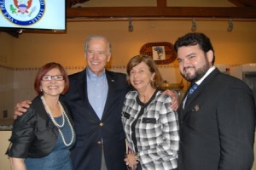
[[[68,77],[67,77],[67,71],[65,71],[64,67],[61,64],[55,63],[55,62],[47,63],[47,64],[43,65],[38,70],[38,73],[37,73],[37,75],[35,77],[35,82],[34,82],[34,88],[35,88],[37,94],[39,94],[39,95],[43,94],[43,92],[40,89],[42,77],[44,77],[44,75],[48,71],[50,71],[51,69],[54,69],[54,68],[58,68],[61,71],[61,75],[63,76],[64,81],[65,81],[65,88],[64,88],[64,90],[63,90],[63,92],[61,94],[66,94],[66,92],[67,92],[67,90],[69,88],[69,80],[68,80]]]

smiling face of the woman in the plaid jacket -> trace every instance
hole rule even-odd
[[[154,74],[149,71],[148,65],[141,62],[131,69],[129,81],[138,92],[145,92],[152,88],[151,82],[154,79]]]

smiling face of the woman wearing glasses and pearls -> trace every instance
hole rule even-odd
[[[48,71],[45,75],[49,76],[55,76],[55,75],[61,75],[61,71],[58,68],[53,68],[50,71]],[[51,77],[51,80],[44,81],[41,80],[40,88],[44,92],[44,97],[47,96],[59,96],[63,89],[65,88],[65,81],[64,80],[55,80],[54,77]]]

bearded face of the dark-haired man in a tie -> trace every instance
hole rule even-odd
[[[196,82],[212,67],[213,53],[205,53],[199,45],[183,46],[177,49],[177,62],[181,75],[189,82]]]

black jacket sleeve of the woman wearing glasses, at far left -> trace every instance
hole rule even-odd
[[[36,113],[32,107],[15,120],[12,135],[9,139],[8,156],[26,158],[29,147],[35,138],[36,122]]]

